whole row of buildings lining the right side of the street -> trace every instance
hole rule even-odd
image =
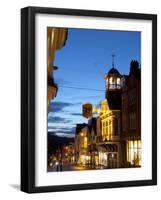
[[[112,66],[104,76],[105,99],[96,117],[77,124],[75,153],[77,163],[96,168],[141,166],[141,74],[132,61],[129,75]],[[85,115],[86,116],[86,115]]]

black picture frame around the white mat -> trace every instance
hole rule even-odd
[[[152,21],[152,179],[76,185],[35,186],[35,15],[111,17]],[[157,15],[96,10],[26,7],[21,9],[21,190],[58,192],[157,184]]]

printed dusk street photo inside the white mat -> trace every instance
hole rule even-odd
[[[55,38],[53,43],[53,35],[60,40]],[[94,53],[96,36],[99,50],[97,47]],[[50,27],[48,38],[48,171],[140,167],[141,34]],[[78,48],[80,38],[83,46]],[[112,53],[105,64],[103,49],[113,52],[114,48],[107,38],[118,41],[115,47],[124,55],[117,60]],[[127,38],[133,42],[125,48]],[[61,48],[54,60],[54,53]],[[135,53],[127,54],[131,49]],[[90,59],[81,63],[86,55],[101,57],[98,67]],[[60,71],[54,73],[57,66]],[[65,84],[54,82],[54,76]]]

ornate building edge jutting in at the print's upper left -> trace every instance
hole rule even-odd
[[[48,75],[48,107],[50,105],[50,101],[57,94],[57,84],[54,81],[54,57],[55,51],[61,49],[67,40],[67,29],[64,28],[52,28],[49,27],[47,29],[47,56],[48,56],[48,67],[47,67],[47,75]]]

